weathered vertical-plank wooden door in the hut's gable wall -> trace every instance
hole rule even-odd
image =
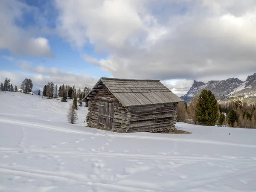
[[[113,129],[114,104],[99,101],[98,126],[105,129]]]

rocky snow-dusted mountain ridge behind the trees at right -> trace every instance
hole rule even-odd
[[[189,102],[191,97],[200,94],[202,90],[211,90],[218,99],[228,99],[235,97],[255,97],[256,96],[256,73],[248,76],[245,81],[237,78],[230,78],[221,81],[194,81],[192,87],[182,96],[186,102]]]

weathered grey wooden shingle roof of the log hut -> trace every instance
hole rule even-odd
[[[125,107],[184,102],[183,99],[180,99],[180,97],[164,86],[160,80],[116,79],[103,77],[97,84],[101,82]],[[96,88],[97,84],[93,89]]]

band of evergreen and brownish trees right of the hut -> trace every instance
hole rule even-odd
[[[177,122],[199,125],[237,128],[256,128],[256,107],[237,99],[226,104],[218,104],[210,90],[202,90],[194,96],[189,105],[180,102],[177,105]]]

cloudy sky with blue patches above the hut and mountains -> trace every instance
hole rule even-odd
[[[256,73],[256,0],[0,0],[0,81],[92,87],[100,77],[193,80]]]

